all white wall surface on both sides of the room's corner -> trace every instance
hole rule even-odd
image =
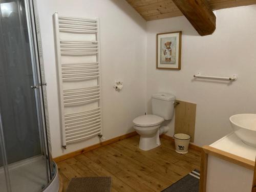
[[[51,125],[53,156],[99,142],[98,138],[61,150],[53,13],[99,17],[101,27],[103,134],[111,139],[133,131],[133,118],[151,113],[151,95],[165,91],[197,103],[197,145],[210,144],[231,132],[228,118],[256,113],[256,7],[218,10],[214,34],[201,37],[184,16],[145,22],[126,1],[37,0]],[[182,35],[181,70],[156,70],[156,33]],[[238,74],[232,84],[194,81],[200,71],[209,75]],[[121,92],[113,89],[124,82]],[[174,120],[168,135],[173,135]]]

